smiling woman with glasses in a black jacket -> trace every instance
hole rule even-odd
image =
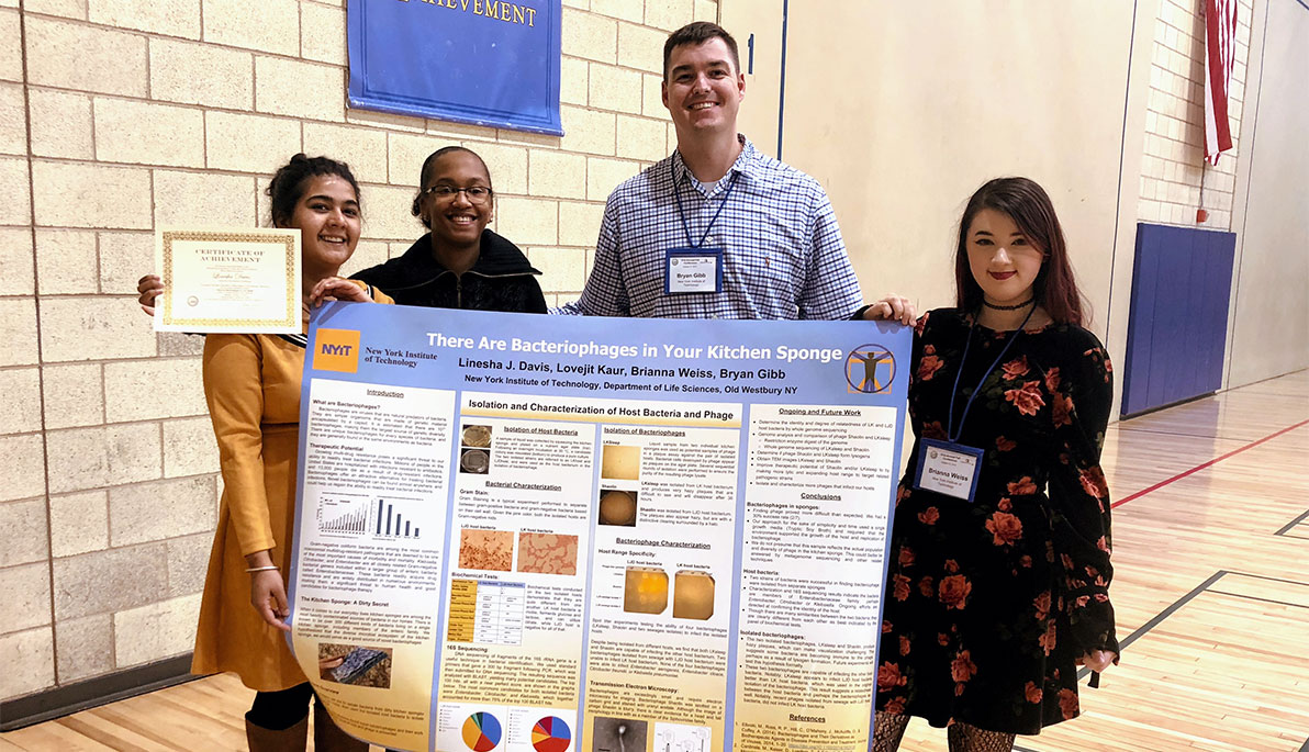
[[[406,306],[546,313],[541,272],[517,246],[486,229],[495,192],[482,157],[463,146],[437,149],[423,162],[419,186],[412,212],[431,231],[355,279]]]

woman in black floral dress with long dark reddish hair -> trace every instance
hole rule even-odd
[[[1109,357],[1081,327],[1063,230],[1031,180],[982,186],[959,222],[958,307],[918,320],[914,453],[899,485],[877,677],[877,752],[911,715],[952,752],[1077,715],[1077,666],[1118,660]],[[929,454],[931,453],[931,454]],[[953,458],[959,488],[920,477]],[[967,468],[975,467],[971,472]],[[969,498],[971,496],[971,500]]]

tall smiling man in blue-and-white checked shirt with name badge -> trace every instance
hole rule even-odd
[[[745,75],[730,34],[703,21],[674,31],[662,97],[677,150],[610,194],[586,288],[556,313],[914,319],[899,296],[861,306],[822,186],[737,133]]]

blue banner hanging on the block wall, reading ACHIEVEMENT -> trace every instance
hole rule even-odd
[[[563,135],[562,0],[348,4],[350,106]]]

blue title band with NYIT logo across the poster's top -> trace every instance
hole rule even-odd
[[[339,309],[338,309],[339,310]],[[414,311],[397,307],[391,315]],[[482,333],[456,322],[484,316]],[[334,337],[338,315],[322,316],[329,332],[315,344],[319,370],[357,374],[397,385],[431,383],[456,377],[452,388],[478,385],[491,391],[541,394],[666,392],[696,399],[736,402],[744,396],[800,396],[805,387],[823,402],[865,404],[869,395],[903,400],[905,357],[893,356],[899,327],[868,322],[660,322],[656,319],[589,319],[459,311],[432,319],[419,316],[407,327],[360,341],[356,332]],[[513,319],[508,324],[507,319]],[[619,323],[620,322],[620,323]],[[487,327],[499,323],[505,333]],[[567,324],[567,326],[562,326]],[[712,326],[711,326],[712,324]],[[819,337],[817,330],[830,332]],[[512,332],[512,333],[509,333]],[[378,332],[382,335],[384,332]],[[565,335],[565,336],[563,336]],[[347,341],[339,341],[347,340]],[[830,344],[814,344],[814,343]],[[838,344],[839,343],[839,344]],[[335,360],[336,364],[325,362]],[[835,366],[835,367],[833,367]],[[410,371],[407,375],[401,373]],[[385,374],[385,375],[378,375]],[[817,381],[816,381],[817,379]],[[499,390],[496,387],[514,387]],[[715,395],[725,395],[716,398]],[[835,395],[835,400],[827,398]],[[593,413],[598,415],[598,413]],[[675,417],[675,416],[672,416]]]

